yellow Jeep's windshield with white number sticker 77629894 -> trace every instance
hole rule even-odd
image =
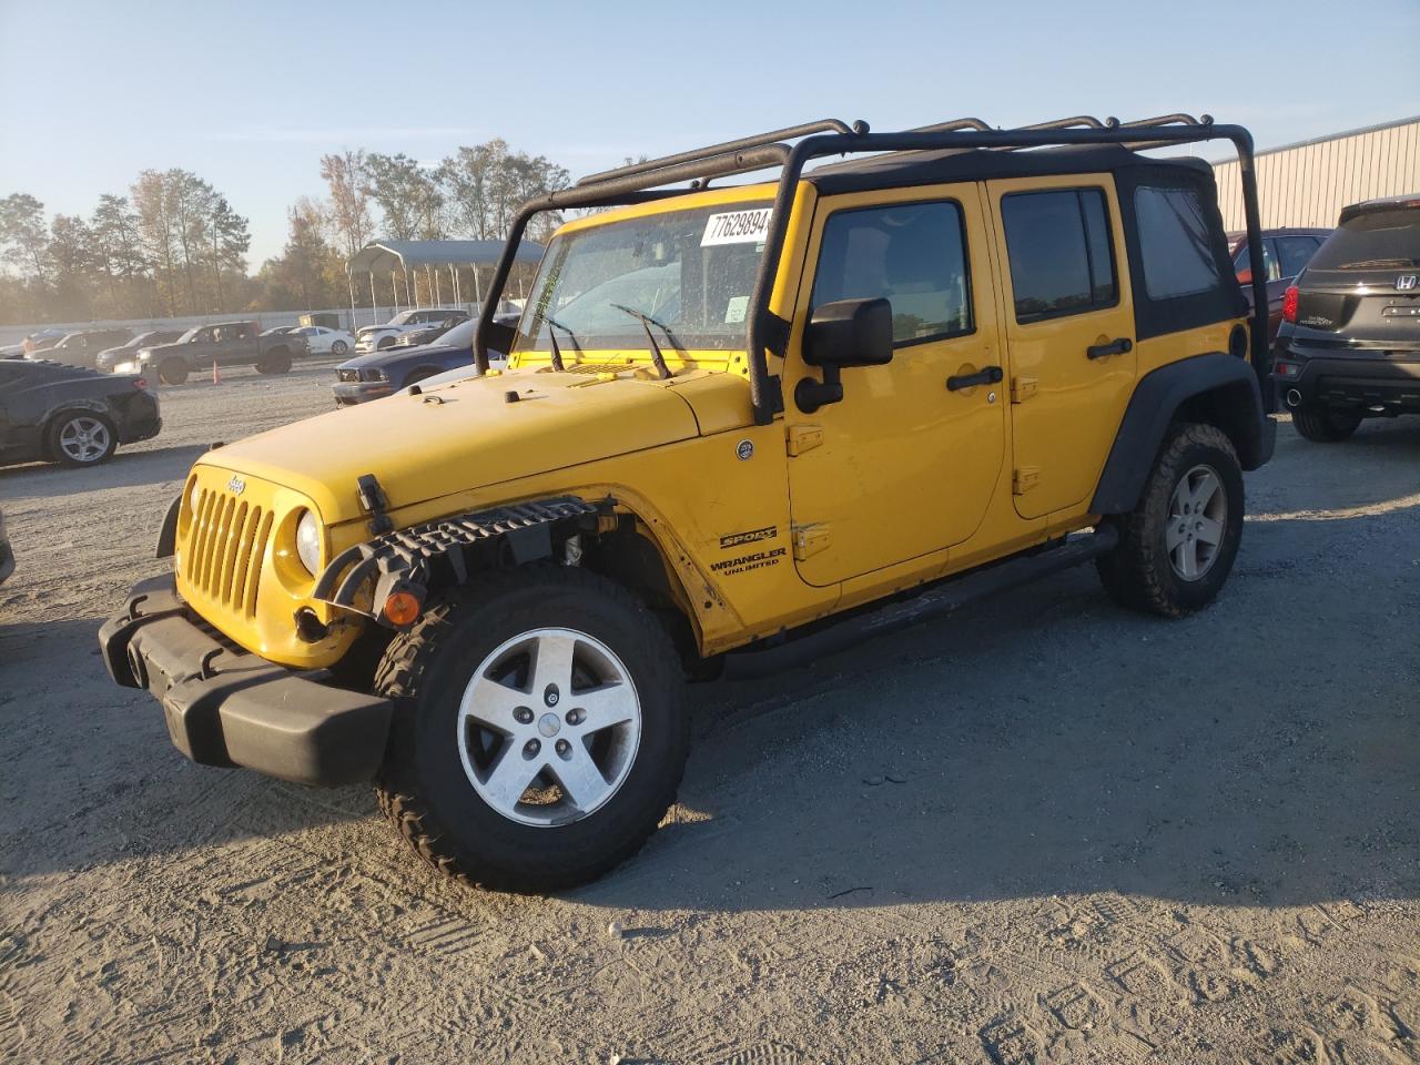
[[[716,204],[575,230],[552,240],[514,351],[744,348],[770,207]],[[557,335],[550,338],[555,328]]]

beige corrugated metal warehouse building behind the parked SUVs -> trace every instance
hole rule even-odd
[[[1213,165],[1228,230],[1247,229],[1237,160]],[[1257,153],[1262,226],[1335,226],[1348,203],[1420,193],[1420,115]]]

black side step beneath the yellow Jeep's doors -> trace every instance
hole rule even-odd
[[[1102,525],[1093,532],[1069,537],[1059,547],[1017,555],[960,577],[949,577],[906,602],[873,605],[826,628],[809,625],[785,633],[774,643],[763,642],[753,649],[730,652],[726,655],[723,676],[726,680],[744,680],[807,666],[875,636],[953,613],[981,599],[1089,562],[1112,551],[1118,542],[1119,531],[1113,525]]]

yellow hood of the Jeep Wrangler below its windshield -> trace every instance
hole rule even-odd
[[[520,399],[508,402],[510,392]],[[202,464],[285,486],[310,498],[325,524],[338,524],[362,517],[362,474],[375,474],[399,510],[687,440],[699,433],[696,409],[709,392],[738,396],[714,405],[736,402],[748,419],[747,382],[723,372],[667,382],[629,372],[520,372],[332,410],[227,444]]]

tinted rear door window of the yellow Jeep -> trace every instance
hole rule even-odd
[[[1015,321],[1096,311],[1119,302],[1103,189],[1001,197]]]

